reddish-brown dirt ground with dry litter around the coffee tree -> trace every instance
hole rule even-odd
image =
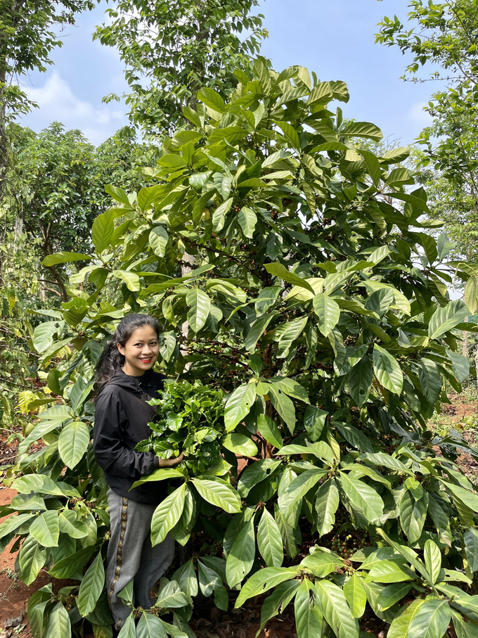
[[[478,416],[477,402],[468,394],[450,395],[451,405],[444,405],[441,414],[434,416],[429,426],[439,432],[454,428],[473,447],[478,447]],[[0,468],[11,464],[16,456],[16,445],[7,442],[8,433],[0,430]],[[478,485],[478,463],[470,454],[461,454],[458,464],[463,468],[468,478]],[[15,490],[1,485],[0,469],[0,506],[11,502]],[[0,522],[4,519],[0,518]],[[27,602],[33,592],[44,587],[52,579],[41,570],[39,577],[30,587],[24,585],[15,575],[15,559],[18,551],[11,553],[13,542],[0,554],[0,638],[32,638],[27,623]],[[217,608],[205,610],[205,618],[195,617],[191,621],[191,628],[198,638],[255,638],[259,629],[259,619],[262,600],[254,599],[247,604],[247,608],[230,609],[227,613]],[[361,627],[370,632],[370,637],[384,638],[384,627],[377,626],[377,619],[370,619],[370,627],[366,618],[362,619]],[[93,638],[85,636],[84,638]],[[294,611],[289,606],[280,618],[268,623],[266,629],[259,634],[259,638],[297,638],[295,631]]]

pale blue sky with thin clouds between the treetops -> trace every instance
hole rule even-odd
[[[439,87],[399,79],[406,56],[374,44],[374,34],[384,15],[404,18],[407,5],[406,0],[265,0],[260,10],[269,39],[262,54],[276,70],[299,64],[322,80],[344,80],[351,94],[343,107],[345,117],[374,122],[385,137],[406,145],[429,122],[422,107]],[[40,108],[23,117],[23,125],[39,131],[59,120],[67,128],[82,129],[98,144],[127,123],[123,103],[101,102],[106,94],[126,89],[117,52],[91,39],[105,8],[103,2],[81,15],[75,27],[65,27],[54,65],[24,80],[24,89]]]

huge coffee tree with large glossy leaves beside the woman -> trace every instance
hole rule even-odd
[[[426,427],[445,383],[460,391],[469,372],[454,333],[468,310],[446,291],[450,243],[426,232],[438,224],[401,165],[408,150],[375,155],[363,141],[380,130],[343,120],[343,82],[277,73],[262,58],[236,75],[228,103],[200,91],[151,186],[108,186],[115,203],[93,223],[94,254],[46,257],[88,265],[34,331],[58,400],[20,442],[19,494],[2,512],[18,515],[0,531],[4,543],[23,539],[25,582],[45,568],[79,584],[32,596],[34,637],[86,622],[111,635],[91,393],[101,349],[131,311],[164,326],[162,370],[220,388],[226,403],[222,461],[141,479],[174,478],[153,542],[169,531],[187,547],[206,530],[217,543],[163,579],[122,638],[135,617],[141,637],[193,636],[199,592],[221,609],[270,593],[261,626],[293,604],[300,638],[358,638],[370,618],[389,623],[388,638],[441,638],[451,622],[474,636],[478,496],[456,459],[476,453]],[[184,253],[195,264],[181,277]],[[65,347],[70,359],[55,366]],[[47,445],[30,453],[38,440]],[[132,583],[122,596],[134,607]]]

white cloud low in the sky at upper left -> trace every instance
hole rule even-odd
[[[127,123],[124,111],[115,104],[96,106],[75,96],[70,84],[53,70],[43,87],[28,88],[27,94],[39,108],[24,118],[22,124],[38,131],[62,122],[67,129],[80,129],[93,143],[99,144]]]

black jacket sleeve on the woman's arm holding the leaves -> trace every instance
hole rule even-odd
[[[124,447],[121,428],[121,404],[115,392],[98,397],[93,428],[93,449],[96,461],[113,476],[138,480],[159,467],[154,452],[136,452]]]

